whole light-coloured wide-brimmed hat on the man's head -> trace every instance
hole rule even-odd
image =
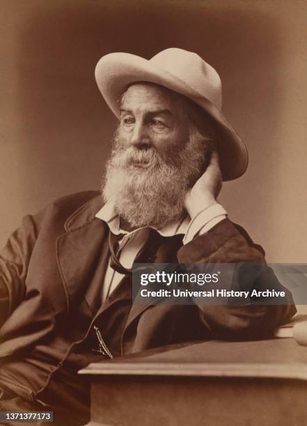
[[[95,78],[104,100],[117,117],[121,95],[137,81],[159,84],[188,97],[213,118],[220,136],[217,149],[223,180],[239,178],[246,171],[249,162],[246,146],[221,113],[219,74],[197,54],[171,48],[149,61],[127,53],[107,54],[97,63]]]

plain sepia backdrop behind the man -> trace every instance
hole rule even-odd
[[[98,189],[116,120],[93,77],[110,52],[194,51],[223,81],[249,148],[224,184],[230,219],[269,262],[306,262],[304,0],[1,0],[0,245],[24,214]]]

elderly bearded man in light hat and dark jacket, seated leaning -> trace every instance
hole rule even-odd
[[[198,55],[104,56],[97,84],[119,124],[102,194],[26,216],[1,253],[1,410],[88,418],[91,361],[189,340],[271,336],[294,314],[267,267],[249,283],[288,305],[132,303],[134,262],[259,263],[264,252],[217,203],[247,153],[223,117],[221,81]],[[251,278],[252,279],[252,278]]]

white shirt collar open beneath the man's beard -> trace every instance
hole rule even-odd
[[[132,234],[133,232],[136,232],[143,228],[138,228],[132,232],[127,232],[125,230],[120,229],[120,220],[118,214],[116,214],[114,210],[113,201],[109,200],[103,207],[100,209],[97,214],[95,214],[95,217],[98,219],[101,219],[102,221],[106,222],[109,226],[111,232],[113,234]],[[174,235],[182,234],[185,235],[187,232],[187,228],[189,227],[190,219],[189,216],[185,216],[183,219],[180,219],[178,221],[173,221],[171,223],[168,223],[168,225],[164,226],[163,228],[156,229],[157,232],[159,232],[162,237],[173,237]]]

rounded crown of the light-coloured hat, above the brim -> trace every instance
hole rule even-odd
[[[177,77],[221,109],[221,78],[198,54],[171,47],[153,56],[150,63]]]

